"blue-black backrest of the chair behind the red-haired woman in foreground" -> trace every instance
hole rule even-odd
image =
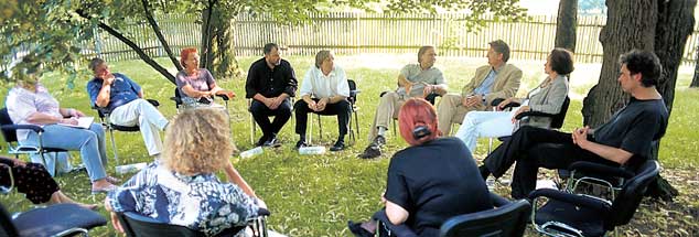
[[[497,208],[449,218],[440,236],[523,236],[531,205],[526,200],[513,201]]]

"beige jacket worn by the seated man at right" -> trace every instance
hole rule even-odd
[[[475,69],[475,74],[469,84],[461,90],[461,96],[466,97],[473,94],[485,77],[493,68],[491,65],[481,66]],[[497,72],[495,83],[491,88],[491,93],[485,95],[485,105],[490,108],[493,99],[514,97],[519,89],[519,80],[521,79],[521,71],[512,64],[505,64]]]

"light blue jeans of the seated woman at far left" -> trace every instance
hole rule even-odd
[[[83,164],[87,169],[89,180],[95,182],[107,177],[107,150],[105,146],[105,130],[99,123],[93,123],[89,129],[71,128],[60,125],[44,126],[42,134],[43,146],[65,150],[79,150]],[[30,131],[23,146],[39,146],[39,134]]]

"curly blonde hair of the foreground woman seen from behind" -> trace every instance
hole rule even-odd
[[[161,162],[184,175],[214,173],[228,162],[234,149],[223,111],[187,109],[168,125]]]

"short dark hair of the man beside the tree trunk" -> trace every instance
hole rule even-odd
[[[632,75],[641,73],[644,87],[657,86],[663,74],[660,58],[649,51],[632,50],[619,56],[619,64],[625,64]]]

